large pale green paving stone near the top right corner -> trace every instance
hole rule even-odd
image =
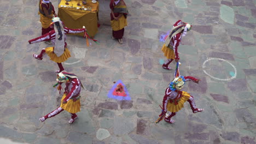
[[[220,18],[228,23],[234,24],[234,10],[226,5],[220,5]]]

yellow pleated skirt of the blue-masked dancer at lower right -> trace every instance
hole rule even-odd
[[[178,104],[175,105],[174,102],[170,103],[170,100],[167,104],[167,111],[178,112],[184,107],[184,103],[190,98],[190,94],[187,92],[182,92],[183,97],[178,101]]]

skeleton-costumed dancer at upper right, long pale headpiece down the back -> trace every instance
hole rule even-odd
[[[171,67],[168,65],[173,59],[175,59],[176,62],[179,61],[178,46],[181,43],[181,39],[187,34],[187,31],[189,31],[191,27],[189,23],[182,22],[181,20],[174,23],[172,32],[165,39],[165,44],[162,46],[162,52],[164,52],[167,58],[162,68],[170,70]]]

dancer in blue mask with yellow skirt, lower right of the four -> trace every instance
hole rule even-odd
[[[194,101],[194,97],[187,92],[181,91],[185,82],[193,81],[199,83],[199,79],[192,76],[178,76],[165,90],[165,97],[162,100],[162,113],[159,115],[159,119],[156,123],[159,123],[165,117],[167,123],[174,123],[174,119],[171,119],[176,115],[176,112],[184,107],[186,101],[189,102],[193,113],[201,112],[203,109],[197,109]]]

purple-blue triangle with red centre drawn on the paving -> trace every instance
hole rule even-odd
[[[124,92],[120,92],[120,93],[115,92],[119,84],[124,87]],[[108,98],[117,99],[117,100],[131,100],[129,92],[127,91],[126,86],[121,80],[118,80],[114,84],[114,86],[110,89],[110,91],[108,92]]]

